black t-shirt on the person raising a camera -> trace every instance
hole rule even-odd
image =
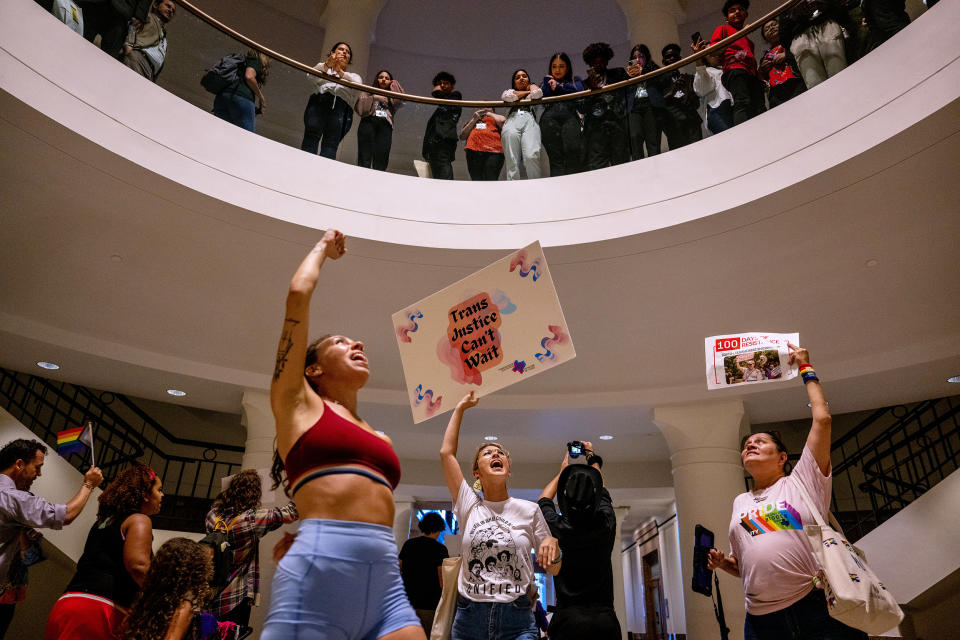
[[[553,500],[540,498],[538,504],[560,541],[563,564],[553,579],[558,607],[613,606],[613,565],[610,554],[617,537],[617,518],[610,493],[600,489],[600,505],[591,526],[572,527],[560,517]]]

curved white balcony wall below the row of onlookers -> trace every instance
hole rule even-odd
[[[267,216],[313,228],[338,226],[371,240],[445,248],[508,248],[532,238],[547,246],[573,245],[684,223],[715,231],[716,223],[710,222],[714,214],[751,209],[764,197],[839,166],[944,106],[949,98],[930,99],[928,93],[942,94],[941,83],[949,83],[949,74],[933,70],[954,59],[947,47],[922,48],[913,54],[904,47],[881,47],[845,70],[842,81],[828,81],[735,130],[604,170],[604,181],[631,188],[597,193],[599,178],[585,173],[551,179],[531,195],[529,183],[411,184],[406,177],[370,174],[236,131],[144,79],[120,73],[122,67],[111,68],[100,52],[64,28],[58,32],[52,18],[29,9],[33,8],[18,8],[30,14],[24,19],[37,29],[50,31],[53,46],[30,51],[31,30],[14,28],[17,23],[10,20],[5,49],[17,52],[18,71],[46,78],[53,85],[46,87],[48,92],[54,86],[59,89],[55,102],[75,102],[61,105],[63,113],[49,107],[44,111],[71,130],[177,183]],[[187,37],[181,42],[190,46],[177,45],[171,36],[170,65],[185,65],[192,73],[171,68],[164,74],[179,80],[192,77],[190,91],[179,85],[170,88],[209,110],[213,96],[195,82],[200,70],[216,59],[209,52],[245,45],[191,22],[195,19],[185,11],[176,20],[178,27],[186,25]],[[934,21],[922,19],[907,32],[937,26],[926,22]],[[178,58],[178,49],[185,49],[186,55]],[[64,56],[76,64],[64,67]],[[899,70],[896,82],[876,81],[894,66]],[[74,68],[86,73],[76,74]],[[89,86],[87,73],[109,77],[109,90]],[[10,89],[29,104],[40,98],[31,99],[26,84]],[[268,107],[261,129],[276,141],[297,145],[302,134],[300,110],[311,91],[308,76],[278,63],[264,90],[277,106]],[[412,155],[404,156],[403,149],[419,152],[420,135],[433,109],[411,103],[398,113],[392,158],[407,172],[412,171]],[[904,111],[916,117],[904,119]],[[177,126],[169,126],[172,122]],[[344,142],[341,153],[349,152],[352,143]],[[705,161],[719,157],[735,157],[737,162]],[[462,158],[460,151],[455,167],[461,171]],[[435,197],[425,199],[424,188]],[[504,205],[517,199],[536,205]],[[782,196],[781,201],[790,204]],[[735,218],[725,216],[724,221],[730,224]],[[740,217],[739,222],[746,219]]]

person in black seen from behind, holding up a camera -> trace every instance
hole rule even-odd
[[[619,640],[613,609],[613,566],[617,518],[603,486],[603,459],[589,442],[580,444],[587,464],[570,464],[570,449],[560,473],[540,494],[540,511],[560,541],[563,566],[553,580],[557,606],[550,621],[551,640]],[[560,513],[553,504],[557,496]]]

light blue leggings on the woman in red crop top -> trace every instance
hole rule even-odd
[[[419,627],[389,527],[303,520],[277,566],[261,640],[375,640]]]

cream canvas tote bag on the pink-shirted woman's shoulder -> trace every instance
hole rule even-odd
[[[843,624],[879,635],[903,620],[903,611],[883,583],[867,566],[863,552],[847,542],[843,529],[830,511],[830,524],[799,481],[794,481],[816,524],[805,524],[810,550],[820,565],[827,610]]]

